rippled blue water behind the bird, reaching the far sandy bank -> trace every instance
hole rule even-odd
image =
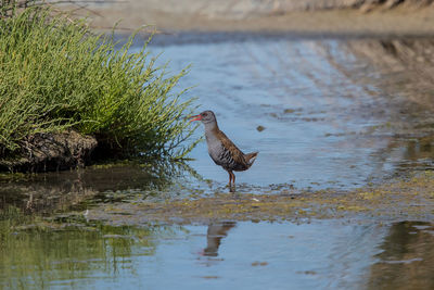
[[[418,133],[408,134],[433,122],[432,111],[400,101],[414,87],[403,91],[406,80],[399,78],[399,88],[394,83],[398,73],[411,77],[411,71],[381,71],[352,50],[380,40],[253,35],[206,42],[205,35],[179,45],[170,39],[156,39],[159,46],[151,50],[163,52],[173,71],[193,65],[182,85],[196,86],[190,94],[199,98],[197,111],[213,110],[220,128],[243,151],[259,151],[255,166],[238,174],[239,182],[348,188],[403,168],[433,168],[433,133],[423,140]],[[369,49],[379,58],[387,54]],[[426,93],[434,102],[432,90]],[[197,136],[202,134],[200,128]],[[205,143],[191,156],[190,165],[205,179],[227,181]]]

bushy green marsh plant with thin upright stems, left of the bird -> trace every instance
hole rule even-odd
[[[2,5],[0,160],[28,151],[31,136],[65,131],[94,137],[111,157],[179,159],[195,144],[184,144],[193,129],[182,117],[192,100],[174,92],[187,71],[167,75],[148,42],[131,52],[135,35],[118,48],[50,7]]]

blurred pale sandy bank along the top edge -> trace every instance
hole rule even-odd
[[[286,31],[309,35],[433,35],[432,1],[113,1],[75,13],[101,30],[130,33],[142,25],[159,33]],[[65,7],[73,9],[73,7]],[[366,12],[370,13],[366,13]]]

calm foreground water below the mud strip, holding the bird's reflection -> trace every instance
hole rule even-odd
[[[2,235],[0,287],[432,289],[433,232],[342,220],[29,228]]]

